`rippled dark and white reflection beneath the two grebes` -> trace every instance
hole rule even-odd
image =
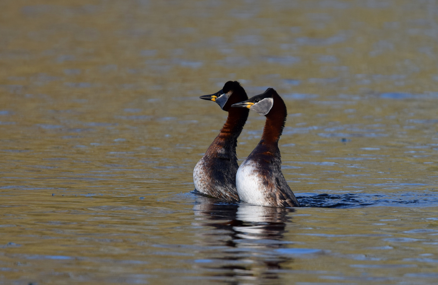
[[[205,275],[223,277],[230,284],[252,280],[263,284],[279,278],[278,270],[288,268],[290,257],[273,249],[283,248],[286,222],[291,208],[236,205],[221,200],[197,197],[193,207],[197,244],[203,247]]]

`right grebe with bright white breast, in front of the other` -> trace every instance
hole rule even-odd
[[[240,200],[271,207],[299,207],[281,172],[278,141],[287,116],[283,99],[276,90],[268,88],[231,107],[249,108],[266,117],[260,142],[237,170],[236,188]]]

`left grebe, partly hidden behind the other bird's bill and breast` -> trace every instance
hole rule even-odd
[[[193,181],[197,191],[220,199],[239,201],[236,189],[237,164],[236,146],[245,122],[248,109],[230,108],[232,104],[247,100],[248,96],[237,81],[228,81],[215,94],[199,97],[219,104],[228,111],[228,118],[219,135],[208,147],[205,155],[193,170]]]

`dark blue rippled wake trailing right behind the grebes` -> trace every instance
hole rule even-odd
[[[301,207],[360,208],[365,206],[433,207],[437,205],[438,193],[433,191],[395,193],[343,193],[296,195]]]

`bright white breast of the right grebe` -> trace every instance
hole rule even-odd
[[[266,205],[264,197],[266,189],[263,187],[263,181],[257,174],[257,164],[251,160],[244,160],[237,170],[236,188],[237,194],[242,201],[256,205]]]

